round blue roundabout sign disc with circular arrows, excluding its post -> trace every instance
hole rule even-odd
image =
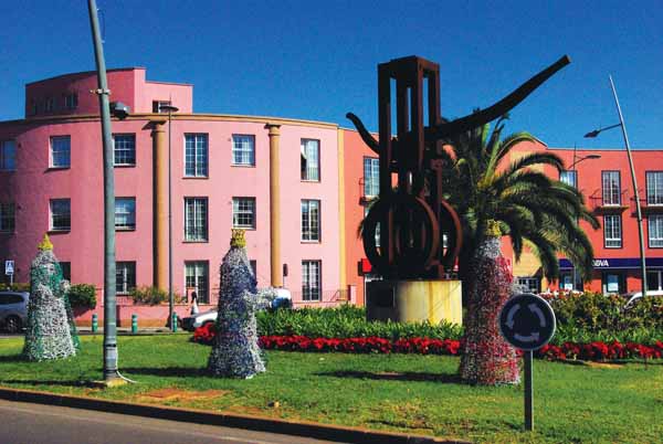
[[[538,350],[555,335],[555,311],[540,296],[525,293],[512,297],[499,313],[499,331],[520,350]]]

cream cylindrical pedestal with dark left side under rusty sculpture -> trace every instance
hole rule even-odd
[[[463,324],[461,281],[372,281],[366,286],[368,320]]]

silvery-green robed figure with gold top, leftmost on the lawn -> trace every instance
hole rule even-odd
[[[30,266],[30,300],[23,356],[31,361],[76,355],[78,337],[69,304],[70,283],[53,254],[48,235]]]

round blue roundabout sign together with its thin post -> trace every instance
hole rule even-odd
[[[524,351],[525,430],[534,430],[533,351],[555,335],[555,311],[540,296],[529,293],[512,297],[499,313],[499,331],[508,343]]]

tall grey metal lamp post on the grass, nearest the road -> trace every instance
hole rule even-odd
[[[117,324],[115,300],[115,180],[113,171],[113,139],[110,135],[110,105],[106,62],[99,34],[99,20],[95,0],[87,0],[92,42],[98,78],[98,88],[93,91],[99,97],[102,115],[102,142],[104,147],[104,381],[119,380],[117,372]]]

